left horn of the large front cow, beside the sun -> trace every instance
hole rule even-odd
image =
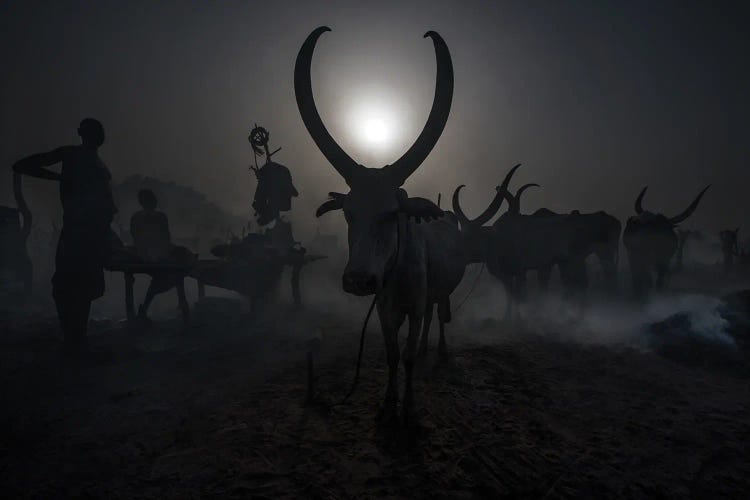
[[[302,121],[305,123],[313,141],[333,168],[349,183],[352,172],[358,167],[357,162],[352,160],[328,133],[323,120],[320,119],[312,93],[312,81],[310,79],[312,55],[318,38],[326,31],[331,31],[331,28],[321,26],[315,29],[299,49],[297,62],[294,65],[294,94],[297,97],[299,114],[302,116]]]

